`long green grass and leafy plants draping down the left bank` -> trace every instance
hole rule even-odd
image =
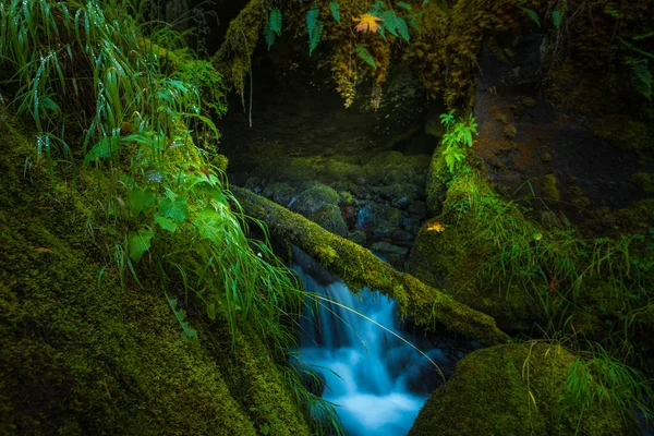
[[[221,76],[187,50],[154,45],[135,11],[116,0],[0,2],[0,85],[34,120],[32,168],[57,187],[70,174],[96,184],[88,228],[113,259],[98,286],[111,271],[123,287],[158,278],[187,342],[198,340],[186,316],[199,306],[211,319],[226,314],[232,334],[247,322],[278,350],[293,347],[284,326],[303,304],[300,283],[231,195],[225,159],[193,141],[218,137],[204,108],[225,112]]]

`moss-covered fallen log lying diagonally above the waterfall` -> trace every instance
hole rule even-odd
[[[504,343],[509,339],[488,315],[398,271],[360,245],[251,191],[232,186],[232,193],[245,214],[265,221],[275,234],[304,250],[341,277],[350,289],[368,287],[379,290],[393,298],[401,316],[413,317],[415,324],[434,327],[440,323],[457,334],[486,344]]]

